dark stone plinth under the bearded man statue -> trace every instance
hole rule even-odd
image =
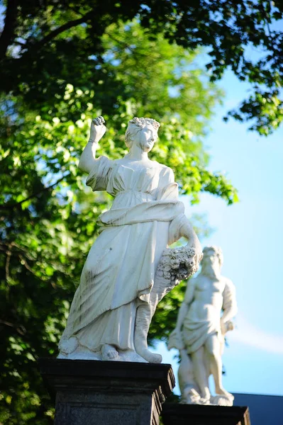
[[[165,403],[164,425],[250,425],[248,407]]]

